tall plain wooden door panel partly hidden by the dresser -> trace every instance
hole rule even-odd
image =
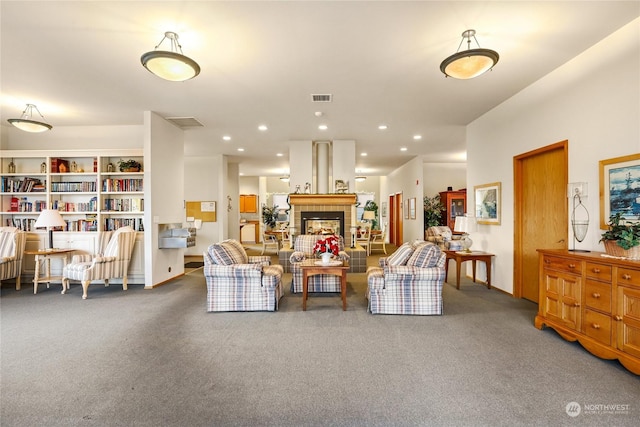
[[[567,249],[568,141],[514,157],[516,298],[538,302],[537,249]]]

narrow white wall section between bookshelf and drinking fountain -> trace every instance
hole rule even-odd
[[[184,132],[144,113],[145,288],[184,273],[185,249],[159,249],[158,224],[184,222]]]

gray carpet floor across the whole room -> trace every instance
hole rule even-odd
[[[302,312],[285,280],[275,313],[206,313],[202,269],[88,300],[3,284],[1,425],[640,424],[640,377],[535,329],[533,303],[463,278],[443,316],[373,316],[358,273],[346,312]]]

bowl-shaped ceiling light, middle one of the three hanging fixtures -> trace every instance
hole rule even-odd
[[[157,50],[165,39],[169,39],[171,51]],[[172,82],[182,82],[200,74],[198,63],[182,53],[182,46],[178,43],[176,33],[172,31],[164,33],[164,37],[155,49],[142,55],[140,61],[144,68],[156,76]]]

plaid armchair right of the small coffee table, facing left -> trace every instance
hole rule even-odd
[[[435,244],[401,245],[379,267],[367,269],[368,309],[373,314],[442,314],[446,256]]]

